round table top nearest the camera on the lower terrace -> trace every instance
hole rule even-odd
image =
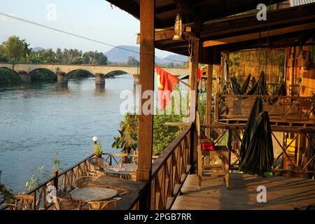
[[[78,188],[71,192],[73,200],[83,202],[99,202],[108,200],[118,195],[118,190],[110,188],[85,187]]]

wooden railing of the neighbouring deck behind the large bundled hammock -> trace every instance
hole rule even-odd
[[[255,95],[220,94],[216,97],[216,120],[225,118],[247,118],[255,101]],[[315,121],[311,113],[315,112],[315,97],[283,97],[260,96],[264,110],[270,119],[286,121],[299,119],[301,121]]]

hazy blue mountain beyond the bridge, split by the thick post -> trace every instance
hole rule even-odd
[[[126,50],[124,50],[126,49]],[[134,57],[138,61],[140,48],[137,46],[130,45],[119,45],[118,47],[112,48],[111,50],[105,52],[105,55],[112,63],[125,63],[128,61],[128,57]],[[161,57],[155,57],[156,64],[169,64],[174,62],[174,64],[181,64],[181,62],[187,62],[188,57],[183,55],[169,55],[164,59]]]

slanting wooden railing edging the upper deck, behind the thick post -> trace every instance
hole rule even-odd
[[[141,209],[141,202],[150,202],[148,207],[142,207],[144,209],[171,209],[192,167],[190,160],[192,132],[190,124],[153,162],[151,183],[145,186],[150,188],[149,193],[148,189],[143,189],[143,193],[139,194],[129,209]]]

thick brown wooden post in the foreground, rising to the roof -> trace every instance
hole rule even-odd
[[[154,40],[155,0],[140,1],[140,83],[141,104],[139,106],[139,156],[137,180],[148,181],[147,193],[140,200],[142,209],[150,209],[151,171],[153,150],[153,98],[142,99],[146,90],[154,90]],[[142,106],[151,102],[151,113],[144,114]]]

